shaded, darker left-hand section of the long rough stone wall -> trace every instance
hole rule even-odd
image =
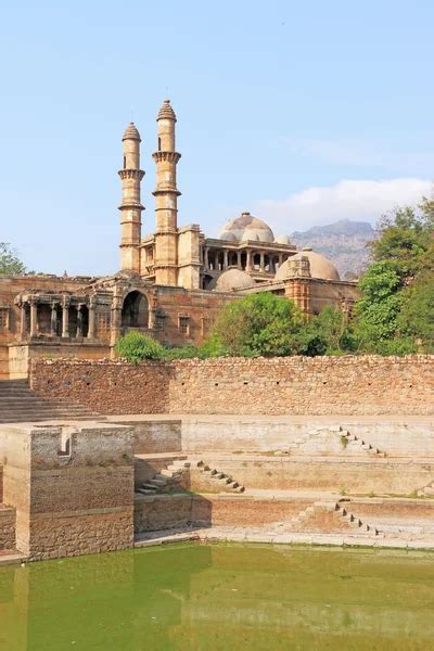
[[[30,387],[99,413],[162,413],[168,411],[169,373],[170,367],[161,362],[33,359]]]

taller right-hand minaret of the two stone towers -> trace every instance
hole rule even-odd
[[[156,199],[155,283],[177,285],[177,202],[181,193],[177,189],[176,166],[181,154],[175,151],[176,115],[170,106],[170,100],[163,102],[156,122],[158,150],[152,154],[156,163],[156,188],[153,192]]]

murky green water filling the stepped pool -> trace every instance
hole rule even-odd
[[[176,545],[2,567],[0,649],[434,649],[434,556]]]

